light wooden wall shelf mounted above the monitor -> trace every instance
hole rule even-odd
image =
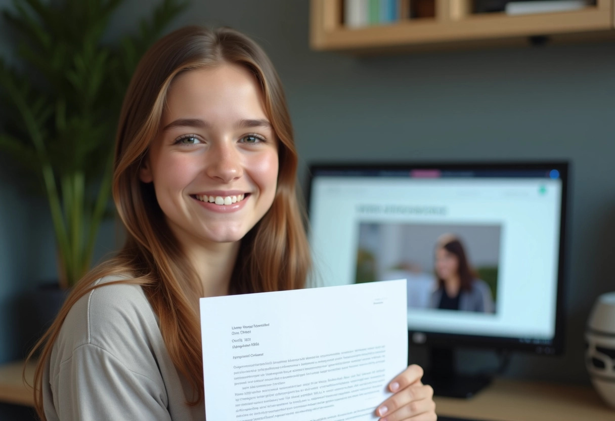
[[[435,18],[401,19],[389,25],[347,28],[342,0],[311,0],[311,47],[315,50],[373,51],[429,44],[462,44],[558,34],[614,34],[613,0],[582,10],[532,15],[472,14],[469,3],[435,0]],[[461,11],[460,11],[461,10]]]

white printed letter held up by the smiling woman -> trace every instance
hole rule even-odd
[[[407,367],[406,281],[200,299],[207,420],[376,420]]]

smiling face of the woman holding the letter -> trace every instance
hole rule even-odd
[[[223,64],[173,81],[141,168],[181,243],[239,241],[269,210],[277,140],[255,77]]]

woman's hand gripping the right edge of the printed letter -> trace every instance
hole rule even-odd
[[[435,421],[434,390],[421,383],[423,369],[409,366],[389,383],[394,395],[376,408],[379,421]]]

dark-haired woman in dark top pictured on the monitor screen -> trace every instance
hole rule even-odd
[[[478,279],[470,266],[464,246],[453,235],[443,235],[435,247],[437,289],[431,307],[442,310],[493,313],[491,289]]]

